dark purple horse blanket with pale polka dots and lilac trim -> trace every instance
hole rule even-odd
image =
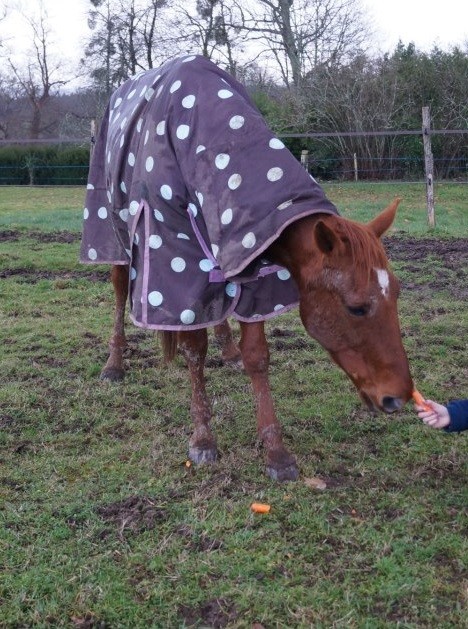
[[[265,319],[298,303],[265,257],[287,225],[337,214],[244,87],[200,56],[110,99],[90,167],[81,261],[129,265],[130,317],[181,330]]]

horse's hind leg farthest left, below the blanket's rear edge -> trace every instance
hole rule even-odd
[[[101,371],[101,380],[120,382],[124,379],[123,352],[127,347],[124,320],[128,297],[128,265],[115,264],[111,272],[115,294],[114,330],[109,341],[109,358]]]

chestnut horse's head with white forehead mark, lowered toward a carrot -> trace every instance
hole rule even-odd
[[[367,406],[387,413],[402,408],[413,388],[398,320],[399,283],[381,242],[399,201],[367,224],[307,217],[286,230],[276,249],[298,284],[307,332]]]

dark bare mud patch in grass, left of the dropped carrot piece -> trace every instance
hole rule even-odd
[[[125,500],[97,507],[96,512],[117,529],[119,537],[152,531],[166,519],[166,511],[150,496],[130,496]]]

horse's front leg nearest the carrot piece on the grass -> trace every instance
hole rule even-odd
[[[266,450],[267,473],[273,480],[296,480],[299,471],[296,459],[287,451],[281,436],[268,381],[270,352],[265,338],[264,324],[241,323],[240,350],[244,369],[252,382],[258,436]]]

